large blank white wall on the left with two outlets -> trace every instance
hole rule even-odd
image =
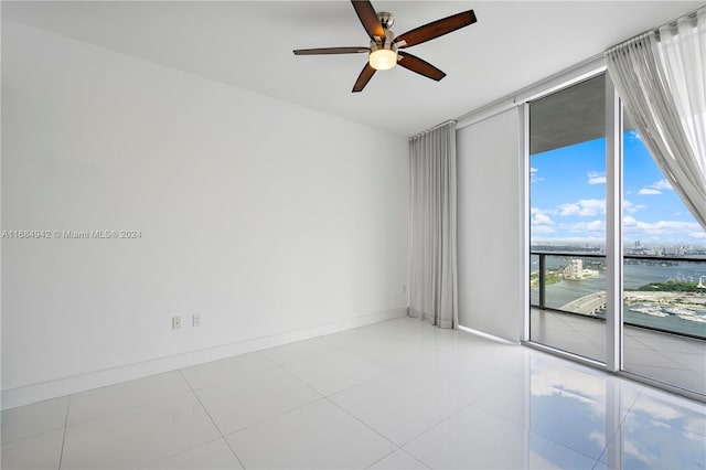
[[[2,239],[3,407],[404,312],[407,179],[404,136],[3,21],[2,229],[141,232]]]

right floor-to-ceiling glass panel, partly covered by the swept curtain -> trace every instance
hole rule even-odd
[[[625,124],[623,370],[706,395],[706,232]]]

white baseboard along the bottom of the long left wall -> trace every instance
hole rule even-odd
[[[292,343],[295,341],[308,340],[324,334],[336,333],[339,331],[364,327],[366,324],[378,323],[398,317],[407,316],[407,307],[370,313],[362,317],[354,317],[345,320],[333,321],[331,323],[318,324],[302,328],[300,330],[287,331],[268,337],[254,338],[237,341],[229,344],[217,345],[199,351],[190,351],[182,354],[160,357],[135,364],[127,364],[119,367],[90,372],[71,377],[58,378],[50,382],[26,385],[18,388],[2,391],[1,409],[14,408],[45,399],[56,398],[74,393],[85,392],[93,388],[114,385],[120,382],[132,381],[148,375],[160,374],[178,368],[190,367],[220,359],[231,357],[268,348]]]

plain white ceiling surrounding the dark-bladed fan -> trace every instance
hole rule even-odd
[[[2,2],[2,17],[330,115],[414,135],[459,117],[702,1],[373,1],[403,33],[473,9],[478,23],[408,51],[448,75],[403,67],[351,88],[364,54],[292,49],[366,46],[349,1]]]

